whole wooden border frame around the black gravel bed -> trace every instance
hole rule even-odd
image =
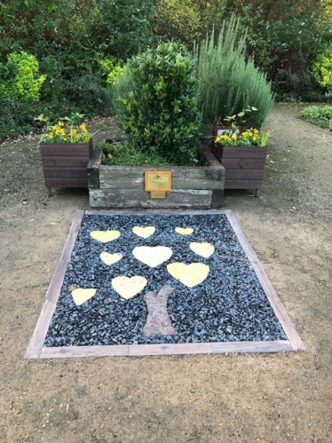
[[[96,215],[140,215],[140,214],[176,214],[176,215],[195,215],[195,214],[225,214],[235,235],[241,243],[249,263],[252,265],[257,278],[260,281],[270,305],[273,308],[277,319],[288,337],[288,340],[269,340],[269,341],[248,341],[248,342],[217,342],[217,343],[188,343],[188,344],[115,344],[99,346],[61,346],[47,347],[43,346],[51,323],[51,317],[55,311],[60,289],[62,286],[67,265],[75,245],[75,240],[82,222],[83,214]],[[35,331],[28,344],[28,350],[24,356],[25,359],[53,359],[69,357],[106,357],[106,356],[146,356],[146,355],[181,355],[181,354],[205,354],[205,353],[226,353],[226,352],[286,352],[286,351],[304,351],[305,347],[296,332],[296,328],[280,298],[277,296],[273,285],[263,265],[261,265],[255,251],[251,248],[248,239],[241,230],[231,210],[195,210],[195,211],[170,211],[170,210],[146,210],[146,211],[110,211],[110,210],[87,210],[77,211],[73,219],[70,231],[67,236],[64,249],[59,257],[59,263],[51,279],[50,286],[46,293],[46,300],[43,304],[42,312],[36,324]]]

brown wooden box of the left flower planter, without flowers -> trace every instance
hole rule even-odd
[[[52,187],[88,187],[87,165],[93,152],[89,143],[41,143],[43,178]]]

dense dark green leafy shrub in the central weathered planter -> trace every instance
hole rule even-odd
[[[127,69],[132,91],[119,93],[118,101],[131,149],[194,162],[201,119],[192,56],[179,44],[162,43],[130,59]]]

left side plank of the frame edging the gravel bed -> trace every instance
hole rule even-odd
[[[28,344],[28,350],[24,355],[25,359],[37,359],[38,357],[40,357],[40,353],[43,349],[43,342],[50,326],[51,317],[53,315],[53,312],[55,311],[59,299],[59,292],[62,286],[63,279],[65,277],[65,273],[67,271],[67,265],[70,259],[70,255],[73,251],[77,234],[81,226],[83,214],[83,210],[78,210],[75,212],[72,225],[70,226],[70,230],[67,235],[65,246],[62,249],[58,265],[51,279],[50,286],[48,287],[46,292],[46,300],[43,304],[42,312],[39,315],[39,319],[36,323],[36,328],[31,337],[30,343]]]

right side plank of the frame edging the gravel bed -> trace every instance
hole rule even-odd
[[[293,351],[305,351],[304,344],[301,340],[301,337],[297,334],[295,325],[290,320],[286,309],[281,303],[280,298],[275,292],[271,281],[269,280],[267,274],[265,273],[265,269],[263,265],[258,260],[258,257],[251,248],[250,243],[247,237],[244,235],[241,227],[236,220],[233,212],[231,210],[225,210],[225,215],[228,218],[229,223],[233,227],[233,231],[236,234],[238,240],[241,243],[241,247],[247,255],[250,264],[252,265],[255,273],[257,274],[257,278],[260,281],[262,288],[265,292],[265,296],[267,297],[270,305],[273,308],[273,312],[275,313],[277,319],[280,321],[283,330],[285,331],[286,336],[289,339],[289,343],[292,346]]]

